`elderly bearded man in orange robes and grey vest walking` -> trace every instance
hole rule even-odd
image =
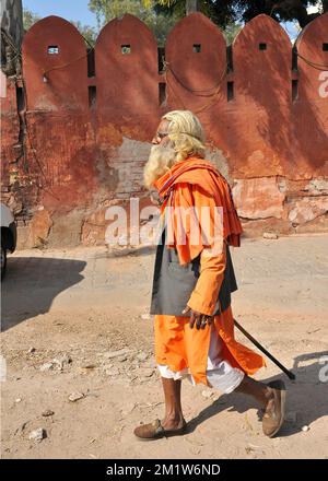
[[[249,377],[266,365],[265,360],[234,339],[231,293],[237,285],[230,246],[239,246],[242,226],[229,184],[204,161],[203,129],[191,112],[164,115],[152,143],[144,181],[162,201],[151,314],[155,315],[155,357],[165,415],[139,425],[134,434],[156,439],[186,432],[180,388],[181,379],[189,377],[194,385],[253,396],[263,411],[262,431],[272,437],[283,422],[285,387],[281,380],[266,385]],[[192,219],[186,221],[184,210]],[[206,218],[210,234],[215,231],[215,210],[220,235],[211,236],[208,230],[204,235]],[[222,243],[215,250],[218,238]]]

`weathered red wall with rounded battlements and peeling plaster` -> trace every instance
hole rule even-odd
[[[247,235],[328,231],[328,14],[296,48],[258,15],[226,49],[195,13],[171,32],[163,73],[152,33],[131,15],[103,28],[94,62],[69,22],[35,24],[23,79],[2,78],[1,91],[2,198],[20,245],[103,244],[107,207],[148,204],[150,141],[175,108],[202,121]]]

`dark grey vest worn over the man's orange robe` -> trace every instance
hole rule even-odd
[[[200,255],[186,266],[180,266],[176,249],[165,245],[165,230],[157,245],[150,314],[183,316],[181,312],[194,291],[200,275]],[[219,292],[214,315],[221,314],[231,305],[231,293],[237,283],[234,268],[226,246],[224,279]],[[221,308],[220,308],[221,306]]]

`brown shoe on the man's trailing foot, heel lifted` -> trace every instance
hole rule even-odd
[[[282,426],[285,410],[285,385],[282,380],[272,380],[268,386],[273,389],[274,410],[266,412],[262,418],[262,431],[266,436],[273,437]]]

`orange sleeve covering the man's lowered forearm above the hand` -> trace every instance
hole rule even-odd
[[[212,316],[224,278],[226,250],[225,245],[215,256],[207,255],[207,250],[203,248],[200,255],[200,275],[187,304],[192,310]]]

